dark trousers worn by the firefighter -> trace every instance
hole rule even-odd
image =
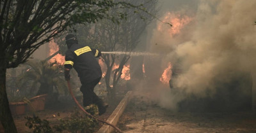
[[[102,101],[94,92],[94,87],[99,83],[101,77],[93,80],[89,83],[84,83],[83,78],[80,78],[82,86],[80,88],[83,93],[83,106],[89,106],[90,104],[97,104]]]

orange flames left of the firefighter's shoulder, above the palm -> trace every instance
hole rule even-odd
[[[54,40],[49,42],[49,56],[51,56],[52,54],[54,54],[55,52],[58,52],[59,47],[56,43],[54,43]],[[52,57],[52,59],[56,60],[58,63],[60,64],[64,64],[65,62],[65,57],[60,55],[59,53],[57,55],[55,55],[54,57]]]

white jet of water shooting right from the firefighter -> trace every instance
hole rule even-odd
[[[141,56],[141,55],[148,55],[148,56],[156,56],[157,53],[148,53],[148,52],[101,52],[102,54],[115,54],[115,55],[130,55],[130,56]]]

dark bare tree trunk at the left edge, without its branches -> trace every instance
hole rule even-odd
[[[17,133],[6,94],[6,64],[3,59],[0,61],[0,121],[4,132]]]

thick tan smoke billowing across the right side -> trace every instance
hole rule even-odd
[[[170,21],[173,31],[157,22],[151,50],[166,53],[163,62],[179,64],[182,74],[173,84],[176,88],[206,97],[206,90],[216,92],[216,80],[228,83],[239,73],[256,72],[255,0],[159,2],[162,3],[161,20],[177,17],[180,27],[179,32],[173,33],[177,27],[173,24],[175,21]],[[174,97],[162,97],[161,105],[175,108],[175,103],[170,103]]]

